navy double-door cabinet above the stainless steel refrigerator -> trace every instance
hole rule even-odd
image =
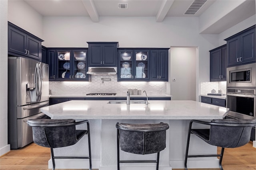
[[[42,39],[8,22],[8,55],[42,61]]]

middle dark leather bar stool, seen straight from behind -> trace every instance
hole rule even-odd
[[[117,169],[120,163],[155,162],[156,170],[159,166],[160,151],[166,147],[167,123],[156,124],[128,124],[116,123],[117,128]],[[133,154],[157,153],[156,160],[120,160],[121,150]]]

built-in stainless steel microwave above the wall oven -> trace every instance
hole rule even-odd
[[[256,63],[227,68],[227,87],[255,87]]]

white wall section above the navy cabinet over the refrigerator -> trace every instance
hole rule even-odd
[[[8,21],[43,39],[43,17],[23,0],[8,0]]]

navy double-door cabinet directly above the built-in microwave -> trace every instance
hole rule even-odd
[[[254,25],[225,39],[227,41],[228,67],[256,61],[255,36]]]

